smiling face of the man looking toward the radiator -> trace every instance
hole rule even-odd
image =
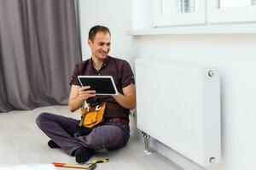
[[[110,39],[111,37],[108,33],[99,31],[93,41],[88,40],[92,57],[106,59],[110,51]]]

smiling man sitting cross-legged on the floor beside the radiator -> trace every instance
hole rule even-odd
[[[50,148],[61,148],[85,162],[96,150],[113,150],[125,146],[130,137],[129,111],[136,106],[134,76],[131,66],[124,59],[108,56],[111,34],[106,26],[93,26],[89,31],[88,45],[91,58],[75,66],[70,80],[71,91],[68,109],[76,111],[84,105],[106,103],[103,122],[95,127],[80,127],[79,120],[41,113],[38,127],[49,137]],[[88,86],[81,87],[78,76],[112,76],[119,94],[96,96]]]

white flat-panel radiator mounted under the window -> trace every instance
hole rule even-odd
[[[205,167],[221,161],[216,68],[136,59],[137,127]]]

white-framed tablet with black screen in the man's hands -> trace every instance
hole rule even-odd
[[[117,95],[118,91],[111,76],[78,76],[81,86],[90,86],[96,95]]]

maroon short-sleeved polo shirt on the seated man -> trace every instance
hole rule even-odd
[[[73,71],[73,76],[70,79],[70,85],[80,86],[78,76],[112,76],[113,81],[116,85],[117,90],[120,94],[123,94],[123,88],[134,83],[134,75],[131,70],[131,66],[124,59],[117,59],[111,56],[107,56],[102,64],[99,71],[96,71],[93,66],[92,59],[87,59],[79,64],[75,65]],[[112,96],[96,96],[95,98],[90,98],[88,101],[93,104],[96,102],[111,102],[113,104],[119,105]],[[129,120],[129,110],[124,108],[124,111],[115,111],[110,108],[106,109],[106,117],[122,117]]]

